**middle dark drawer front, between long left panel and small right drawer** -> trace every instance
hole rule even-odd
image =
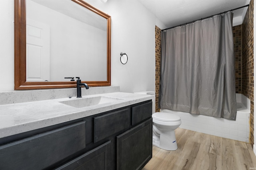
[[[128,128],[130,120],[129,108],[94,117],[94,143]]]

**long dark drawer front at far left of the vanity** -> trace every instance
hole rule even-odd
[[[0,169],[34,170],[48,166],[86,147],[86,122],[34,135],[0,146]]]

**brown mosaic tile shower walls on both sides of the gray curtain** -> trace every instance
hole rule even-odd
[[[250,99],[250,143],[254,144],[254,56],[253,56],[253,20],[254,0],[250,1],[242,25],[233,27],[234,47],[236,59],[236,93],[242,93]],[[161,59],[161,29],[156,26],[156,111],[158,109],[158,94],[160,81],[160,59]]]

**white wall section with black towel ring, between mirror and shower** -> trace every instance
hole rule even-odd
[[[112,19],[112,85],[120,91],[155,90],[155,21],[151,12],[136,0],[86,0]],[[120,52],[128,55],[120,63]]]

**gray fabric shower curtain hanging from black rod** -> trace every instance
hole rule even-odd
[[[233,14],[162,31],[159,106],[236,119]]]

